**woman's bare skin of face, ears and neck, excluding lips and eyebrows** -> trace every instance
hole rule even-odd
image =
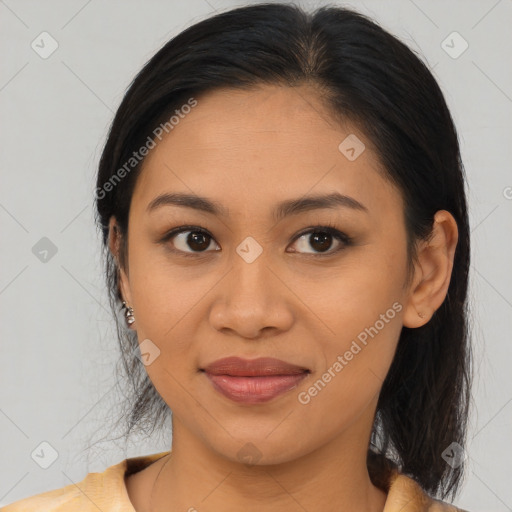
[[[402,326],[428,322],[446,296],[457,227],[448,212],[437,212],[408,281],[401,194],[383,177],[365,135],[334,122],[319,98],[310,85],[210,92],[146,157],[120,287],[139,342],[150,339],[160,350],[146,370],[173,411],[173,443],[171,456],[126,478],[138,512],[384,508],[386,494],[366,467],[378,395]],[[351,133],[366,145],[354,161],[338,150]],[[333,191],[368,211],[337,206],[279,222],[271,216],[280,201]],[[148,212],[163,192],[206,196],[229,215],[172,205]],[[326,256],[310,235],[294,240],[316,224],[334,225],[353,243],[327,238]],[[187,245],[188,232],[160,242],[182,225],[211,234],[206,252]],[[110,233],[118,258],[115,218]],[[263,249],[252,263],[236,252],[248,236]],[[402,308],[394,318],[300,403],[299,393],[396,302]],[[236,404],[198,370],[231,355],[276,357],[311,373],[270,402]],[[246,443],[258,450],[254,465],[237,456]]]

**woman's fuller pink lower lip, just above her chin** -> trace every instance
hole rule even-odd
[[[260,404],[297,387],[307,373],[264,377],[233,377],[206,373],[213,387],[234,402]]]

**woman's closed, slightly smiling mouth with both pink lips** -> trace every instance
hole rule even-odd
[[[280,359],[219,359],[201,371],[226,398],[245,404],[268,402],[296,388],[310,374],[308,368]]]

